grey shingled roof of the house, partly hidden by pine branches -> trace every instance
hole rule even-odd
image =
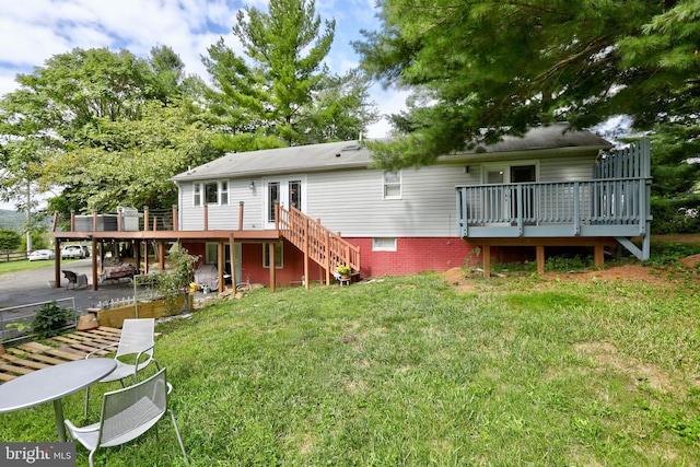
[[[607,149],[611,144],[590,131],[569,131],[568,124],[530,129],[525,137],[505,137],[501,142],[459,152],[445,159],[469,157],[476,154],[513,153],[560,148]],[[296,145],[260,151],[228,153],[207,164],[174,176],[174,182],[210,178],[249,177],[267,174],[339,171],[368,167],[372,151],[360,141]]]

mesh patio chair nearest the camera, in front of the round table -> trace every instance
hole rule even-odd
[[[165,380],[165,369],[162,369],[141,383],[105,393],[97,423],[78,428],[70,420],[65,420],[63,424],[70,437],[90,451],[88,459],[90,467],[93,467],[97,448],[118,446],[137,439],[168,412],[185,463],[188,464],[175,415],[167,408],[167,396],[172,389],[173,386]]]

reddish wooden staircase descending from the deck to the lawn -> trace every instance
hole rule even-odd
[[[278,205],[275,219],[282,237],[304,253],[305,277],[308,277],[308,259],[324,268],[326,284],[330,284],[331,276],[340,265],[360,272],[360,248],[342,240],[339,232],[329,231],[296,208],[287,210]]]

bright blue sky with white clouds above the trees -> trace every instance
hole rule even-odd
[[[188,73],[208,80],[200,56],[220,36],[234,50],[241,45],[231,33],[236,12],[244,7],[267,10],[267,0],[18,0],[3,1],[0,12],[0,95],[16,89],[16,73],[31,73],[46,59],[74,47],[126,48],[148,57],[151,47],[170,46]],[[326,62],[335,73],[358,66],[350,46],[360,30],[376,30],[374,0],[316,0],[322,20],[336,20],[336,36]],[[372,100],[382,114],[405,107],[406,92],[384,91],[377,83]],[[389,130],[383,119],[369,137]]]

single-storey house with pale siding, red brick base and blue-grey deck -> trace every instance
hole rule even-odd
[[[560,124],[420,170],[371,168],[350,141],[226,154],[173,179],[182,230],[234,237],[185,246],[207,264],[234,258],[236,278],[267,283],[275,268],[278,284],[325,280],[342,262],[362,277],[446,270],[477,246],[488,271],[491,246],[535,247],[542,262],[546,246],[648,255],[631,242],[649,233],[648,148],[625,162],[610,148]],[[339,240],[354,253],[324,249]]]

